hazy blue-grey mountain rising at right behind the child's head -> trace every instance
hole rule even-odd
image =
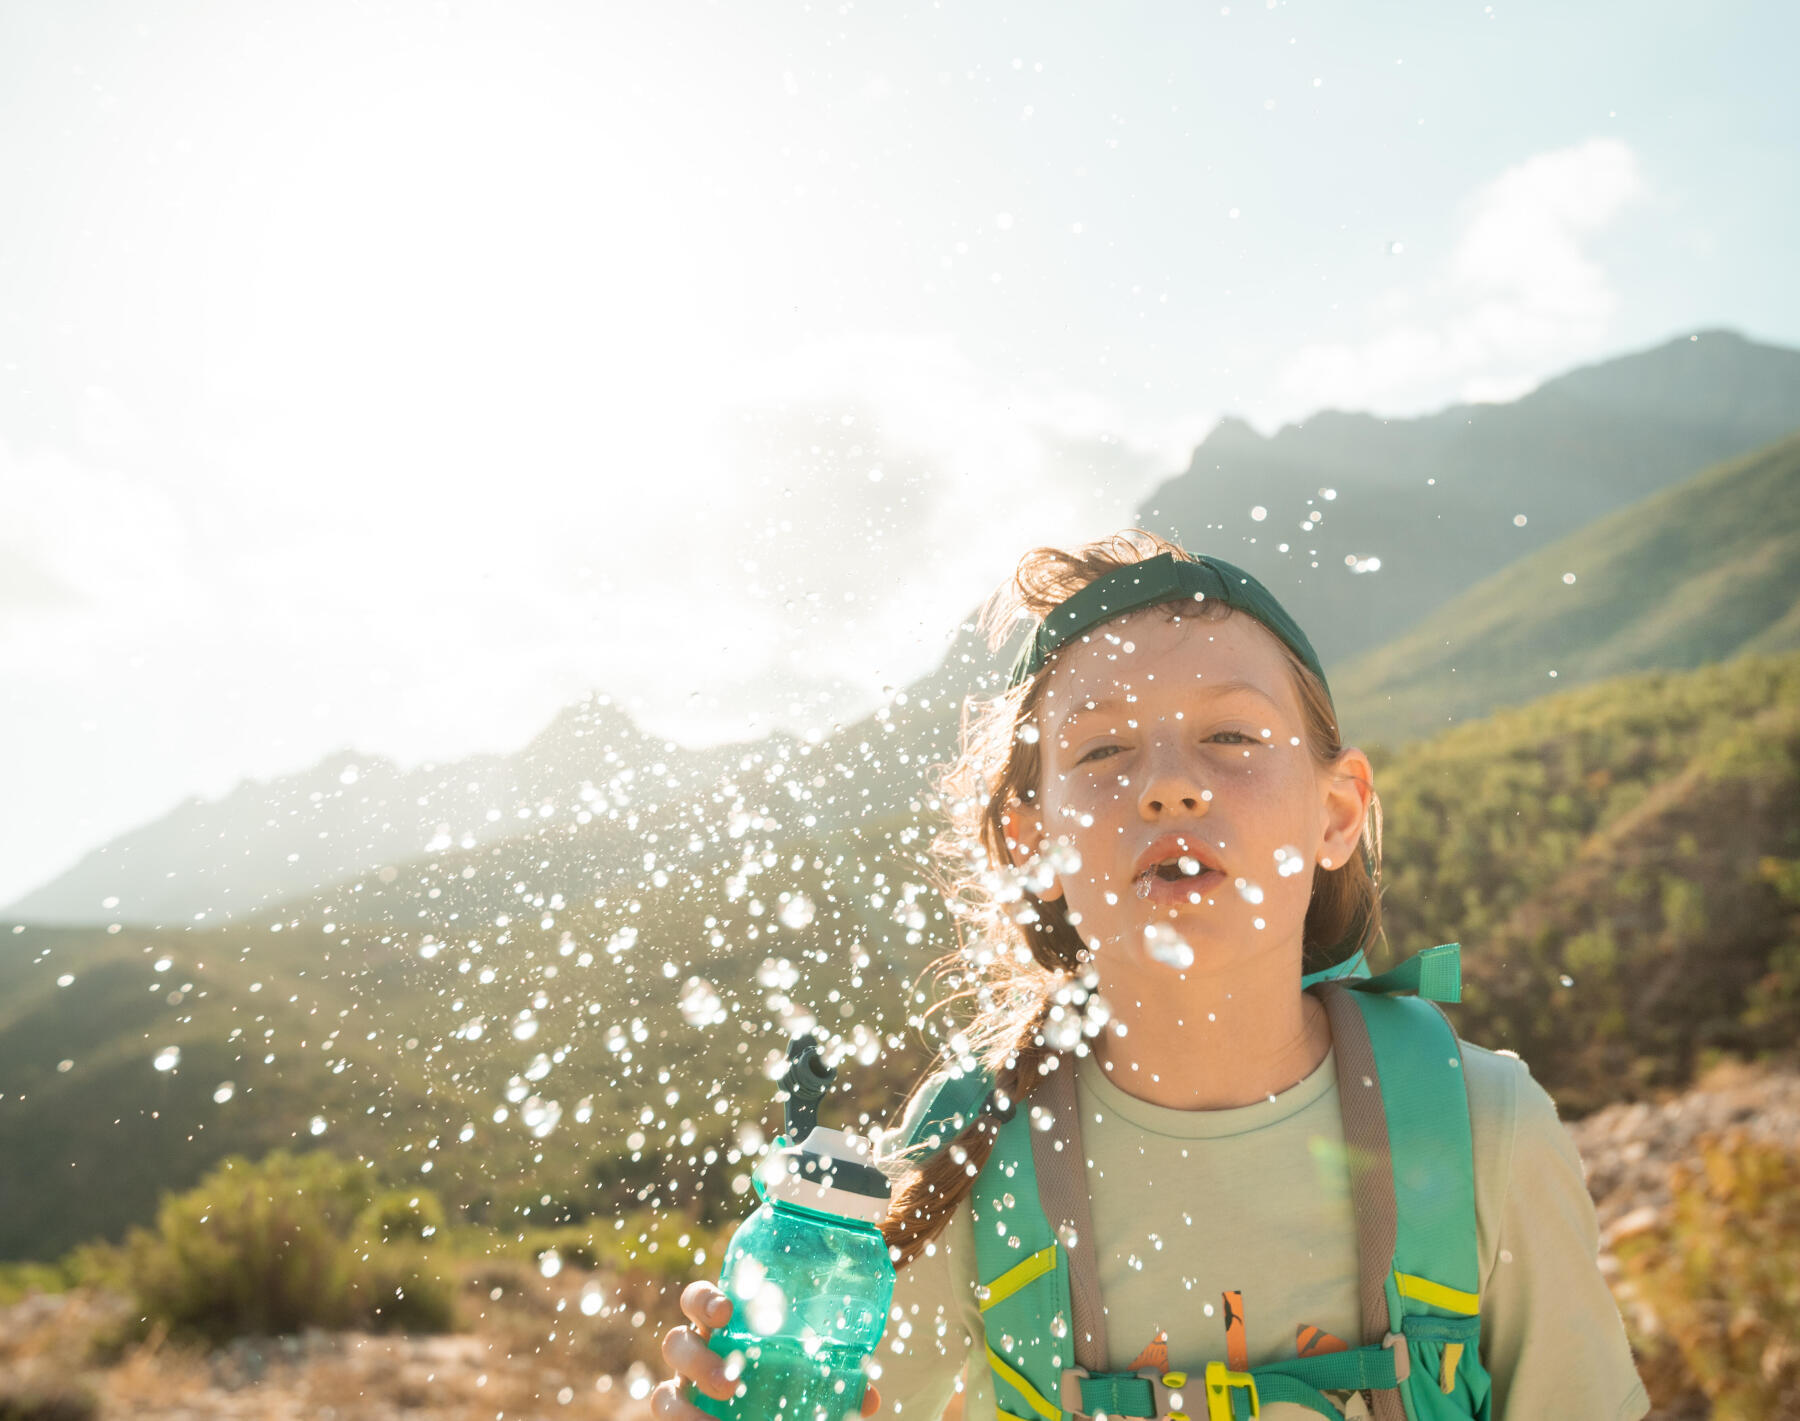
[[[1505,405],[1328,411],[1273,438],[1228,420],[1139,519],[1267,584],[1330,674],[1501,567],[1796,429],[1800,351],[1699,331]],[[1379,571],[1352,571],[1368,558]]]

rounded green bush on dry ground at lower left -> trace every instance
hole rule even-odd
[[[302,1327],[441,1331],[454,1288],[421,1245],[382,1241],[392,1203],[373,1198],[367,1174],[324,1153],[229,1158],[164,1196],[155,1230],[131,1230],[126,1281],[146,1317],[209,1342]],[[418,1198],[419,1217],[443,1217],[436,1199]]]

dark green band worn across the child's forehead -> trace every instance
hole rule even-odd
[[[1242,567],[1233,567],[1222,558],[1188,562],[1174,553],[1157,553],[1154,558],[1116,567],[1051,609],[1049,616],[1039,623],[1037,634],[1019,652],[1006,684],[1012,688],[1028,681],[1044,668],[1049,654],[1062,643],[1073,641],[1102,621],[1136,612],[1139,607],[1154,607],[1159,602],[1202,602],[1206,598],[1249,612],[1282,638],[1307,665],[1307,670],[1319,677],[1325,695],[1330,697],[1332,690],[1325,681],[1325,668],[1319,665],[1312,643],[1267,587]]]

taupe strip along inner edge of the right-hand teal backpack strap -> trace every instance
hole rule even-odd
[[[1388,1111],[1381,1102],[1375,1048],[1368,1041],[1363,1009],[1350,989],[1323,982],[1312,989],[1325,1001],[1337,1059],[1337,1102],[1343,1109],[1345,1149],[1350,1156],[1350,1201],[1355,1207],[1357,1302],[1363,1342],[1388,1336],[1388,1273],[1399,1214],[1393,1203],[1393,1156],[1388,1149]],[[1372,1390],[1375,1421],[1406,1421],[1399,1390]]]

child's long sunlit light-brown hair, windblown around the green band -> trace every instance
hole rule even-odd
[[[1193,560],[1186,549],[1143,528],[1075,549],[1033,548],[983,605],[981,630],[997,652],[1019,621],[1035,625],[1087,584],[1159,553]],[[1199,605],[1161,603],[1161,611],[1170,618],[1222,621],[1237,609],[1208,600]],[[1276,643],[1294,677],[1307,749],[1321,767],[1332,765],[1345,746],[1330,695],[1285,641],[1276,638]],[[1051,1037],[1073,1041],[1078,1036],[1069,1025],[1082,1010],[1085,991],[1071,978],[1080,973],[1085,944],[1064,917],[1062,902],[1039,899],[1030,881],[1013,872],[1004,823],[1008,810],[1028,807],[1039,792],[1040,740],[1021,731],[1039,726],[1053,665],[1055,657],[1037,675],[997,697],[965,701],[959,755],[934,776],[949,825],[932,854],[938,888],[956,919],[959,947],[932,964],[936,980],[952,991],[931,1010],[972,1005],[961,1054],[974,1057],[994,1077],[994,1095],[1004,1104],[994,1100],[936,1151],[927,1142],[900,1156],[911,1167],[898,1181],[882,1223],[889,1248],[898,1250],[900,1266],[943,1232],[956,1205],[968,1194],[994,1149],[1001,1122],[994,1111],[1026,1104],[1049,1070],[1048,1057],[1062,1050]],[[1301,935],[1309,971],[1368,949],[1381,937],[1381,895],[1375,886],[1381,800],[1373,792],[1363,846],[1373,872],[1352,859],[1314,873]],[[1049,1030],[1053,1023],[1062,1028]],[[934,1073],[927,1072],[913,1086],[902,1113],[932,1079]]]

